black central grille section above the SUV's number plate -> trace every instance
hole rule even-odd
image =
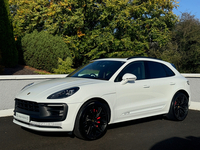
[[[23,110],[39,112],[39,105],[36,102],[24,101],[15,99],[15,108],[20,108]]]

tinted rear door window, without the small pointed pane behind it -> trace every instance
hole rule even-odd
[[[148,79],[167,77],[167,73],[162,64],[157,62],[146,61],[146,66]]]

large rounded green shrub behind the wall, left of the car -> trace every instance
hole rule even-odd
[[[57,67],[58,58],[71,58],[63,39],[45,31],[26,34],[21,42],[26,65],[37,69],[52,72],[52,68]]]

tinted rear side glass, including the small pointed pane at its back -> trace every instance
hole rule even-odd
[[[158,62],[146,61],[146,67],[147,79],[165,78],[175,75],[170,68]]]

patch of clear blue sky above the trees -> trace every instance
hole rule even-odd
[[[191,15],[195,15],[195,18],[200,20],[200,0],[177,0],[179,2],[178,9],[174,9],[173,12],[181,17],[181,12],[188,12]]]

